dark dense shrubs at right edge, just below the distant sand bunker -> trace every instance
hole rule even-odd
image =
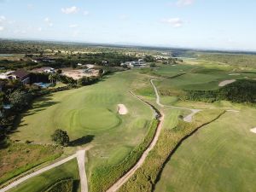
[[[188,90],[187,99],[201,102],[227,100],[230,102],[256,102],[256,81],[238,80],[218,90]]]

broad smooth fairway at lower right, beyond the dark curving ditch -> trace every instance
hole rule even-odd
[[[189,137],[166,164],[156,192],[255,191],[256,110],[225,113]]]

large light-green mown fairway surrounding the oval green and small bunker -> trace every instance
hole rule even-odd
[[[92,174],[118,166],[143,143],[148,133],[153,112],[129,92],[142,86],[144,79],[136,70],[115,73],[97,84],[39,98],[21,116],[18,131],[11,138],[52,143],[50,135],[55,129],[67,131],[71,141],[92,136],[93,148],[87,153],[89,163],[86,164],[92,186]],[[119,115],[119,103],[125,104],[129,113]],[[108,173],[111,177],[112,172]],[[101,188],[102,183],[98,181],[96,185]]]

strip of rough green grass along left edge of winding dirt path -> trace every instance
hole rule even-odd
[[[132,166],[134,166],[142,156],[144,150],[151,143],[156,127],[159,121],[154,119],[148,128],[147,136],[144,138],[143,143],[137,145],[131,153],[125,157],[121,163],[115,166],[104,166],[96,168],[96,170],[91,174],[91,183],[90,183],[90,191],[101,192],[106,191],[109,187],[116,182],[119,177],[125,175]]]

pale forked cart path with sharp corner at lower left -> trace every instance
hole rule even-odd
[[[85,158],[85,150],[79,150],[76,154],[73,154],[69,157],[67,157],[64,160],[60,160],[50,166],[46,166],[40,170],[38,170],[37,172],[32,172],[28,175],[26,175],[25,177],[21,177],[18,180],[16,180],[13,183],[10,183],[8,186],[4,187],[3,189],[0,189],[0,192],[5,192],[8,191],[9,189],[15,188],[16,186],[18,186],[20,183],[25,182],[27,179],[32,178],[32,177],[36,177],[38,175],[40,175],[43,172],[47,172],[53,168],[55,168],[56,166],[61,166],[64,163],[67,163],[69,160],[73,160],[74,158],[77,158],[78,163],[79,163],[79,175],[80,175],[80,182],[81,182],[81,192],[88,192],[88,184],[87,184],[87,179],[86,179],[86,173],[85,173],[85,167],[84,167],[84,158]]]

